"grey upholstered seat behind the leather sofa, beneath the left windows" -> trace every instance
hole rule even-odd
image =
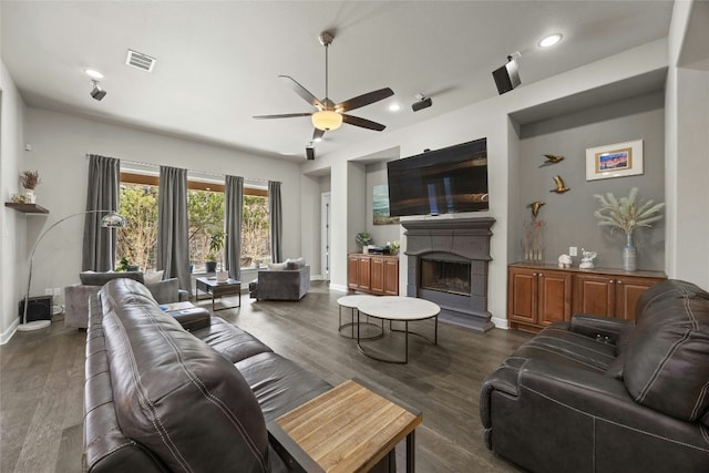
[[[85,329],[89,325],[89,299],[96,295],[104,284],[111,279],[130,278],[145,284],[145,277],[140,271],[127,273],[93,273],[84,271],[79,275],[81,284],[64,288],[64,327]],[[179,289],[176,278],[145,284],[157,304],[184,301],[189,298],[186,290]]]

